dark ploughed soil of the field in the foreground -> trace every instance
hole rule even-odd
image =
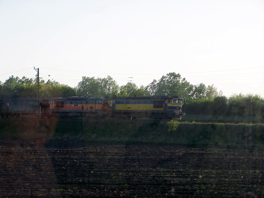
[[[263,197],[264,149],[0,140],[0,197]]]

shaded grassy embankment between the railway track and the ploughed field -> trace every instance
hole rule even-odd
[[[84,140],[105,143],[263,146],[263,124],[178,123],[168,121],[103,119],[1,119],[0,137]]]

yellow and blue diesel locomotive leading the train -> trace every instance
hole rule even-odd
[[[179,96],[129,96],[110,100],[111,117],[178,119],[182,115],[183,99]]]

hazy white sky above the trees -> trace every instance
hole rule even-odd
[[[263,0],[2,0],[0,27],[2,82],[35,78],[34,67],[71,87],[107,75],[147,86],[176,72],[227,97],[264,97]]]

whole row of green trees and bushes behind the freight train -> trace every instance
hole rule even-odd
[[[36,79],[11,76],[4,83],[0,81],[0,97],[36,97]],[[229,98],[212,84],[192,85],[175,72],[153,80],[147,86],[136,86],[133,82],[119,86],[116,81],[106,78],[82,77],[76,87],[69,87],[56,81],[40,81],[40,97],[69,96],[180,96],[185,100],[184,110],[188,115],[264,115],[264,99],[258,95],[233,94]]]

